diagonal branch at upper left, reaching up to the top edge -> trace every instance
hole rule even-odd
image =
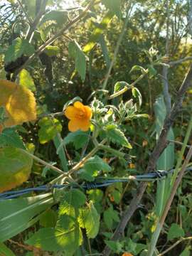
[[[13,75],[13,80],[16,78],[16,75],[18,75],[18,73],[26,67],[26,65],[28,65],[29,63],[31,63],[31,61],[36,58],[36,56],[40,55],[43,50],[45,50],[46,46],[49,46],[51,43],[53,43],[56,39],[58,39],[60,36],[62,36],[63,33],[65,33],[65,31],[68,31],[68,29],[70,29],[75,23],[77,23],[78,21],[80,21],[81,18],[83,18],[86,14],[87,11],[89,11],[89,9],[92,7],[92,5],[94,4],[95,0],[90,1],[90,4],[87,5],[87,7],[85,8],[84,11],[82,11],[82,13],[80,15],[78,15],[76,18],[74,18],[72,21],[70,21],[70,23],[68,23],[64,28],[61,28],[60,31],[58,31],[58,33],[55,34],[55,36],[53,36],[52,38],[48,39],[48,41],[46,41],[46,43],[43,43],[42,46],[40,46],[35,53],[33,53],[33,55],[31,55],[28,60],[26,60],[26,62],[21,65],[20,68],[18,68],[14,75]]]

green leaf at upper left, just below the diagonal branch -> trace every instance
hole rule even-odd
[[[16,38],[6,50],[5,63],[10,63],[22,55],[30,56],[35,53],[35,48],[26,39]]]

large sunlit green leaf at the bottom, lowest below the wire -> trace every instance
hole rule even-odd
[[[62,250],[71,255],[82,244],[82,232],[70,216],[62,215],[55,228],[41,228],[26,243],[42,250]]]

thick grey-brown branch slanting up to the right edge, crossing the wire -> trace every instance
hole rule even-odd
[[[174,121],[178,116],[178,113],[181,111],[184,94],[186,93],[186,90],[188,90],[188,87],[190,87],[191,85],[192,85],[192,65],[189,68],[188,73],[186,74],[186,77],[184,78],[180,89],[178,90],[176,101],[174,103],[174,106],[171,109],[171,113],[164,120],[164,126],[161,129],[159,140],[154,148],[154,151],[151,153],[149,157],[149,163],[146,168],[147,173],[149,173],[150,171],[154,171],[156,166],[156,161],[159,159],[159,156],[166,148],[168,144],[166,140],[167,134],[171,126],[174,124]],[[135,210],[137,210],[137,207],[139,206],[139,203],[142,199],[144,191],[146,190],[146,186],[147,186],[147,182],[140,183],[139,188],[134,195],[134,198],[132,198],[132,201],[129,204],[129,208],[127,208],[127,210],[124,211],[122,220],[120,221],[119,225],[114,231],[114,235],[112,236],[113,241],[119,240],[119,238],[122,237],[124,233],[124,229],[127,226],[127,223],[129,222],[130,218],[132,218],[132,215],[134,214]],[[102,253],[104,256],[108,256],[110,255],[110,252],[111,252],[111,249],[106,246]]]

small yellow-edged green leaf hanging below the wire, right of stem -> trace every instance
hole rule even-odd
[[[100,215],[97,213],[93,203],[87,204],[86,208],[80,210],[78,218],[80,228],[85,228],[87,238],[95,238],[100,228]]]

